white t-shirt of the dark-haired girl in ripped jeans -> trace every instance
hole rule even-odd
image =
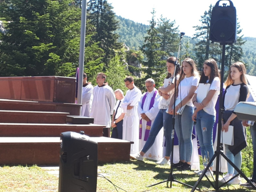
[[[208,81],[209,80],[207,80],[207,82]],[[210,100],[210,102],[203,108],[203,110],[210,115],[216,116],[215,105],[218,100],[218,96],[220,95],[220,87],[221,87],[220,78],[215,77],[214,80],[212,80],[212,82],[210,84],[209,91],[216,90],[216,92],[215,92],[214,96],[212,97],[212,99]],[[197,92],[198,92],[198,89],[197,89],[196,93]]]

